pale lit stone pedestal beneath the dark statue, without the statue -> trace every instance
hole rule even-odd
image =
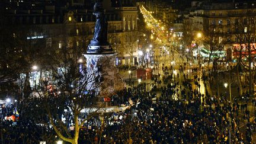
[[[125,83],[115,66],[116,53],[86,53],[84,57],[87,73],[92,77],[87,89],[94,90],[101,101],[124,88]]]

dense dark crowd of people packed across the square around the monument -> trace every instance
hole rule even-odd
[[[79,143],[254,143],[256,125],[248,109],[250,101],[235,99],[231,103],[225,95],[200,94],[192,88],[197,76],[191,81],[181,71],[183,81],[174,81],[169,75],[159,85],[161,78],[155,75],[151,91],[140,84],[118,92],[111,100],[114,105],[130,99],[134,105],[126,111],[101,116],[103,121],[98,117],[89,119],[80,131]],[[156,92],[160,95],[156,96]],[[51,143],[59,139],[49,126],[28,119],[6,121],[2,117],[1,143]]]

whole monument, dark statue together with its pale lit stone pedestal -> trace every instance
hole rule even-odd
[[[115,91],[123,89],[125,83],[115,66],[116,53],[107,41],[108,24],[101,0],[95,2],[93,14],[96,17],[94,37],[84,57],[87,72],[95,79],[89,82],[88,89],[94,89],[95,95],[103,101],[103,97],[111,97]]]

